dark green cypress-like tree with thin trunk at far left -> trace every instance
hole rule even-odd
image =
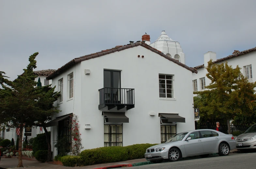
[[[20,138],[23,138],[23,127],[33,126],[41,120],[41,116],[46,113],[47,108],[54,109],[54,113],[58,113],[53,104],[59,93],[53,92],[53,87],[50,92],[46,90],[48,86],[37,88],[37,77],[33,69],[36,66],[37,53],[29,57],[29,64],[24,73],[19,75],[13,81],[8,80],[5,72],[0,72],[0,123],[7,127],[20,127]],[[53,99],[52,99],[52,98]],[[49,99],[49,100],[47,100]],[[47,105],[46,107],[44,107]],[[48,114],[48,113],[47,113]],[[48,132],[47,132],[48,133]],[[19,164],[17,167],[23,167],[22,163],[22,139],[19,139]]]

